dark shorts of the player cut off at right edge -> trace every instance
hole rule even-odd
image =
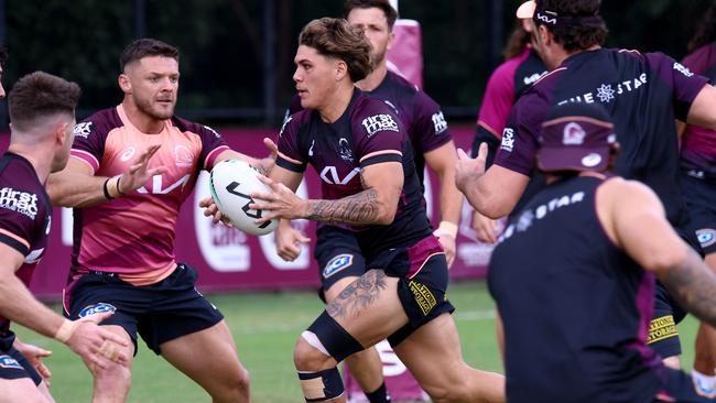
[[[681,188],[701,249],[705,254],[716,253],[716,181],[684,174]]]

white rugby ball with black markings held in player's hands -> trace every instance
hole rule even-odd
[[[267,211],[249,208],[249,205],[254,203],[249,195],[253,192],[271,193],[269,187],[259,181],[259,175],[261,174],[253,166],[241,160],[221,161],[214,166],[209,175],[209,189],[219,211],[234,227],[256,236],[270,233],[279,225],[276,218],[260,225],[254,222]]]

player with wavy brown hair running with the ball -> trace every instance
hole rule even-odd
[[[422,204],[411,145],[392,108],[354,86],[372,69],[370,43],[345,20],[324,18],[301,33],[294,80],[305,109],[279,137],[279,157],[264,178],[272,194],[252,208],[281,217],[340,225],[352,231],[367,272],[347,285],[299,338],[294,362],[305,400],[345,402],[336,366],[388,338],[435,402],[501,402],[502,377],[463,360],[454,309],[446,299],[447,262]],[[326,199],[293,192],[306,166],[333,172]]]

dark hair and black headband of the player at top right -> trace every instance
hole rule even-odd
[[[607,24],[599,17],[601,0],[535,0],[536,10],[557,14],[557,21],[572,19],[575,23],[545,24],[534,13],[534,22],[545,25],[565,51],[584,51],[601,45],[607,37]],[[582,20],[582,21],[578,21]]]

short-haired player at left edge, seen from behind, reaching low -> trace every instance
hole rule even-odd
[[[0,57],[4,65],[4,53]],[[0,74],[1,74],[0,69]],[[75,83],[36,72],[22,77],[10,92],[10,146],[0,157],[0,400],[53,402],[43,379],[50,371],[42,358],[50,351],[21,342],[10,330],[14,320],[54,337],[96,368],[127,363],[117,347],[127,342],[97,326],[111,313],[69,322],[35,299],[28,284],[42,259],[50,235],[52,205],[43,184],[62,170],[69,156],[75,108],[80,90]],[[0,85],[0,97],[4,89]]]

